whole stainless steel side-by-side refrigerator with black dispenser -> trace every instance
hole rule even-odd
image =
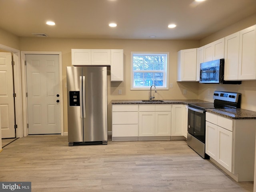
[[[107,144],[107,67],[66,69],[68,145]]]

